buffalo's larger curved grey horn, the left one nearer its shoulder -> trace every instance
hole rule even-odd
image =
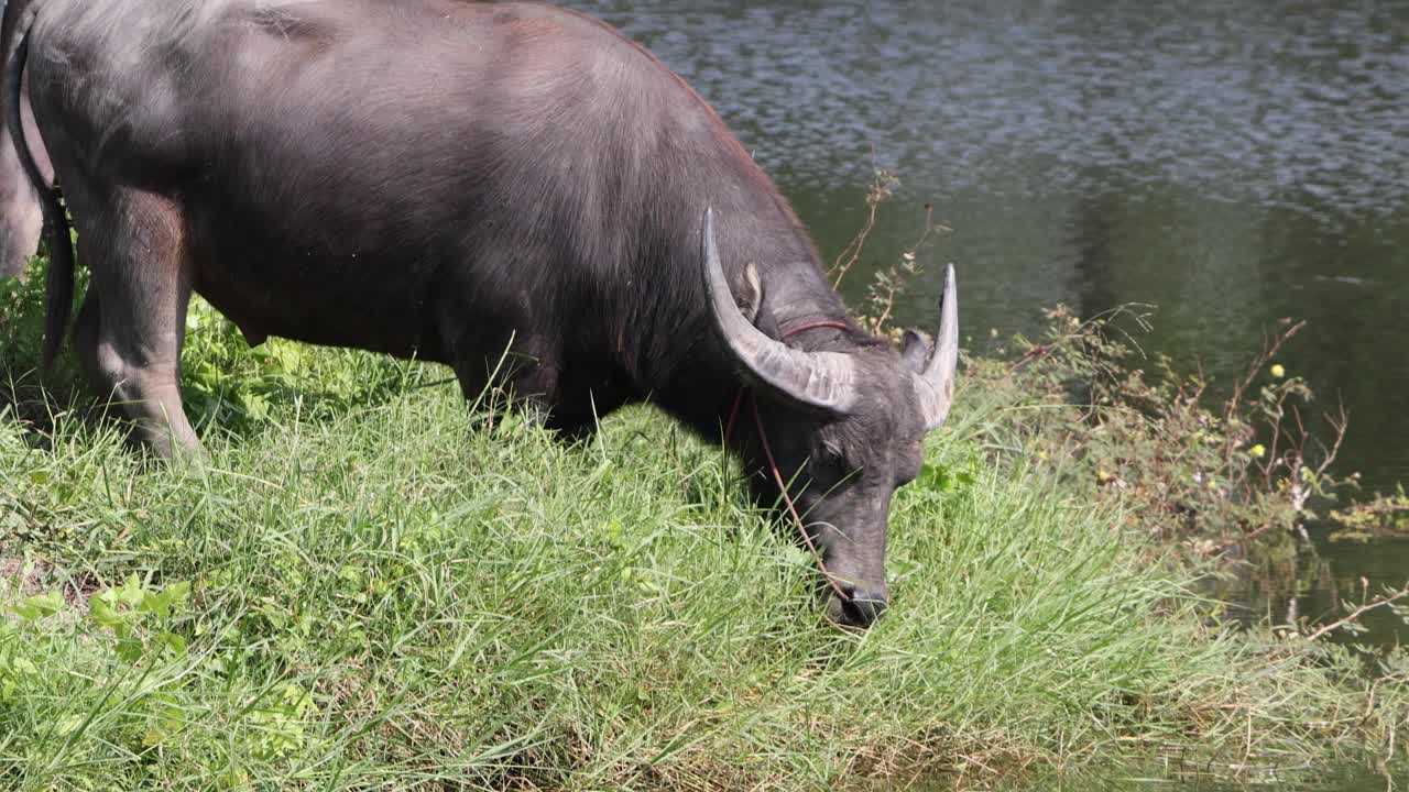
[[[857,402],[855,364],[838,352],[803,352],[775,341],[738,311],[714,247],[714,210],[704,210],[704,293],[714,327],[755,385],[828,413],[851,412]]]

